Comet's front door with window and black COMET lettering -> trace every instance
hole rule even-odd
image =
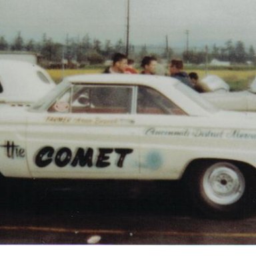
[[[33,177],[137,177],[133,91],[123,85],[72,85],[45,113],[29,115],[27,151]]]

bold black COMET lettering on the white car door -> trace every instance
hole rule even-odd
[[[111,165],[111,162],[109,162],[110,155],[115,154],[115,165],[122,168],[127,155],[131,153],[133,153],[133,149],[99,148],[97,149],[97,152],[95,152],[91,147],[88,147],[87,149],[79,147],[75,153],[73,153],[69,147],[61,147],[56,150],[51,146],[46,146],[39,149],[36,153],[35,164],[38,167],[47,167],[53,163],[57,165],[57,167],[65,167],[67,165],[76,167],[79,165],[81,167],[95,166],[104,168]],[[93,159],[95,159],[95,161],[93,161]]]

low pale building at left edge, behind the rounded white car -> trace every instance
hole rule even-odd
[[[28,51],[0,51],[0,59],[10,59],[15,61],[25,61],[32,64],[39,62],[39,55]]]

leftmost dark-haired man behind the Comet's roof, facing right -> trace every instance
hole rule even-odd
[[[103,73],[105,74],[122,74],[127,69],[127,56],[123,53],[115,53],[113,55],[113,63],[107,67]]]

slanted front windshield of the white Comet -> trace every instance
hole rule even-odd
[[[59,85],[57,85],[54,89],[49,91],[45,96],[43,96],[39,101],[33,103],[31,107],[29,108],[30,111],[43,111],[47,109],[48,105],[51,104],[52,101],[55,100],[55,98],[60,95],[63,91],[65,91],[67,88],[69,88],[70,83],[67,81],[61,82]]]

